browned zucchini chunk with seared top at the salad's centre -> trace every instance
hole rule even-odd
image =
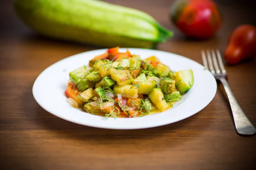
[[[111,79],[116,81],[118,85],[130,85],[133,81],[133,78],[128,70],[111,68],[109,70],[109,74]]]

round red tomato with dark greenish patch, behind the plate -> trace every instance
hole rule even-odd
[[[221,27],[221,15],[211,0],[176,0],[172,22],[188,37],[207,39]]]

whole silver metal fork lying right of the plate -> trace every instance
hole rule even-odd
[[[230,102],[237,133],[241,135],[252,135],[256,133],[255,127],[253,127],[250,120],[244,114],[243,110],[241,109],[238,102],[236,101],[235,96],[233,95],[229,85],[227,84],[227,81],[226,81],[227,72],[224,68],[220,51],[218,49],[211,50],[211,51],[206,50],[206,53],[205,53],[205,51],[202,50],[201,54],[202,54],[204,67],[213,74],[216,80],[220,80],[222,85],[224,86],[228,100]],[[208,60],[208,64],[207,64],[207,60]],[[208,65],[209,65],[209,68],[208,68]]]

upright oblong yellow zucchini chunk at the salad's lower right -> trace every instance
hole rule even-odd
[[[164,111],[169,108],[169,105],[163,99],[163,92],[160,88],[154,88],[150,94],[148,94],[150,101],[160,110]]]

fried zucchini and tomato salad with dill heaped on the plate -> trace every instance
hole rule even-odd
[[[171,108],[194,84],[193,71],[173,72],[155,56],[109,48],[71,71],[67,101],[105,117],[139,117]]]

